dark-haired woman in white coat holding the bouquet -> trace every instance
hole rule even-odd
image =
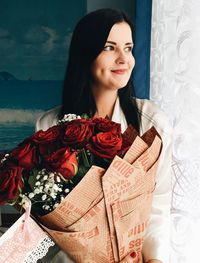
[[[48,129],[67,113],[108,116],[121,123],[122,131],[128,124],[140,134],[152,126],[157,129],[163,149],[143,245],[143,262],[168,263],[172,130],[151,101],[131,97],[131,73],[135,65],[132,32],[127,16],[112,9],[94,11],[79,21],[70,45],[62,106],[46,112],[37,121],[36,129]],[[135,254],[131,256],[124,262],[133,262]]]

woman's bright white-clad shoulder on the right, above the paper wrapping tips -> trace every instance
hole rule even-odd
[[[172,134],[172,126],[169,117],[152,100],[135,99],[138,113],[141,118],[142,131],[145,132],[154,126],[161,134]]]

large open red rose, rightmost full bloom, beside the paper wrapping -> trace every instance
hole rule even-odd
[[[115,132],[98,133],[92,137],[91,143],[88,144],[89,149],[93,154],[112,159],[121,149],[122,137]]]

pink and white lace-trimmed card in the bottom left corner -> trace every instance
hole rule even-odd
[[[0,238],[0,263],[35,263],[54,245],[28,210]]]

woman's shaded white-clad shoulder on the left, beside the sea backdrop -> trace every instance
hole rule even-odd
[[[44,112],[36,122],[36,131],[43,130],[46,131],[48,128],[57,124],[58,115],[60,111],[60,106],[52,108]]]

